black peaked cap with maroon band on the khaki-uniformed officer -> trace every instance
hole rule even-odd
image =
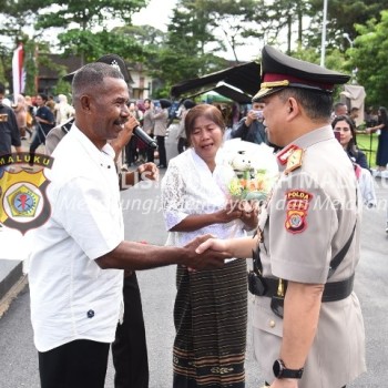
[[[252,101],[258,101],[289,86],[331,93],[336,84],[346,83],[349,79],[349,75],[300,61],[265,45],[262,52],[261,90]]]

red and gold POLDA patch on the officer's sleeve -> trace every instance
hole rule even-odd
[[[285,227],[289,233],[302,233],[307,227],[307,210],[313,194],[302,190],[293,190],[286,193],[286,222]]]

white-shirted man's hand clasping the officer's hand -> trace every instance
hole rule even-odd
[[[184,247],[187,249],[187,256],[184,259],[184,265],[194,269],[215,269],[221,268],[224,265],[224,259],[229,256],[226,253],[207,249],[203,254],[197,254],[196,248],[204,243],[206,239],[211,238],[212,235],[198,236],[191,241]]]

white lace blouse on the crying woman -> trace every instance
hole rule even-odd
[[[223,208],[227,202],[226,183],[232,176],[232,167],[226,164],[217,164],[212,173],[194,149],[172,159],[162,180],[166,228],[170,231],[191,214],[211,214]],[[245,236],[244,223],[235,219],[194,232],[170,232],[166,245],[183,246],[207,233],[218,238],[242,237]]]

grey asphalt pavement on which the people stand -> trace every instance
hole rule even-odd
[[[388,235],[385,217],[388,201],[388,181],[377,180],[379,206],[366,210],[363,233],[363,259],[356,277],[356,292],[361,300],[366,333],[368,372],[350,388],[387,387],[388,370]],[[142,183],[143,184],[143,183]],[[126,238],[164,244],[160,208],[160,190],[132,188],[123,193]],[[169,388],[172,381],[171,354],[174,338],[172,309],[175,295],[174,266],[139,273],[150,354],[150,388]],[[32,343],[29,294],[25,288],[0,319],[0,387],[39,387],[37,354]],[[265,355],[265,349],[263,349]],[[262,386],[261,374],[252,356],[251,329],[247,347],[247,388]],[[106,388],[113,388],[110,365]],[[325,387],[326,388],[326,387]],[[327,387],[328,388],[328,387]]]

